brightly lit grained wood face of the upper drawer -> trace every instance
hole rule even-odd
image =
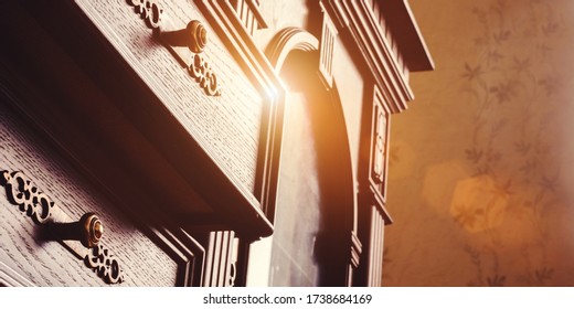
[[[219,97],[205,95],[126,1],[78,6],[235,184],[253,194],[264,100],[196,8],[189,1],[162,2],[171,23],[183,29],[200,20],[206,28],[202,56],[217,74]]]

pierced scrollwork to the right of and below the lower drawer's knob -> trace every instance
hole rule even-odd
[[[84,262],[106,284],[120,284],[124,281],[124,271],[121,271],[118,260],[103,245],[91,248]]]

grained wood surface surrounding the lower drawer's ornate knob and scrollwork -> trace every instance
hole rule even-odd
[[[25,172],[71,217],[98,213],[106,225],[103,243],[124,269],[121,286],[176,285],[177,262],[32,132],[6,102],[0,105],[0,166]],[[106,285],[60,243],[45,241],[41,226],[11,204],[3,189],[0,222],[0,262],[33,285]]]

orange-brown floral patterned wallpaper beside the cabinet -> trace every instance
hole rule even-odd
[[[385,286],[574,286],[574,1],[411,0]],[[413,194],[416,192],[416,194]]]

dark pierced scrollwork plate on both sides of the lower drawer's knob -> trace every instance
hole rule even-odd
[[[55,203],[21,171],[1,171],[0,185],[4,187],[8,201],[17,205],[19,210],[30,216],[34,223],[44,225],[54,221],[70,221]],[[124,281],[124,273],[118,259],[99,244],[93,248],[85,248],[77,242],[64,241],[62,244],[92,268],[98,277],[107,284],[120,284]]]

